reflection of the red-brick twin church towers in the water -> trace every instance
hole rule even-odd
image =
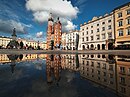
[[[46,56],[46,76],[48,83],[56,83],[60,80],[61,71],[61,56],[60,55],[47,55]]]

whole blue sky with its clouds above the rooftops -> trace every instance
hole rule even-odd
[[[110,13],[129,0],[0,0],[0,36],[46,41],[49,13],[60,17],[62,32],[79,30],[94,16]]]

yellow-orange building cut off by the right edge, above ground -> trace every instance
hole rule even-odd
[[[115,46],[130,49],[130,2],[113,10],[115,20]]]

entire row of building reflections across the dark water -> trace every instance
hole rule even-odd
[[[59,86],[61,70],[67,69],[74,73],[79,72],[81,78],[115,91],[121,97],[130,97],[130,56],[108,54],[1,54],[0,58],[0,62],[9,63],[12,73],[17,62],[46,59],[47,83],[51,86]]]

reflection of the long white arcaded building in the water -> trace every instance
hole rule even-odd
[[[101,54],[80,55],[80,74],[86,79],[116,90],[116,64],[109,62],[106,57],[108,56]]]

